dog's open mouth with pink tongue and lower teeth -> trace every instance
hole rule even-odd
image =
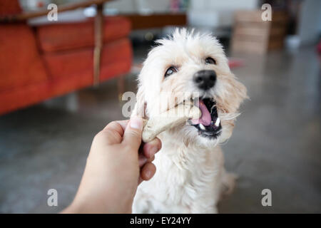
[[[198,104],[202,115],[198,120],[190,120],[190,123],[198,129],[198,133],[204,137],[217,138],[222,130],[218,109],[215,100],[211,98],[199,99]]]

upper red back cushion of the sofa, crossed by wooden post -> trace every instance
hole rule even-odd
[[[44,52],[93,47],[93,20],[77,23],[50,24],[39,26],[36,33],[39,46]],[[103,42],[128,36],[131,24],[121,16],[108,16],[104,19]]]

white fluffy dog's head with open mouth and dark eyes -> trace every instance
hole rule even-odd
[[[196,95],[201,118],[167,133],[186,143],[218,143],[230,138],[238,108],[247,95],[245,86],[230,72],[220,43],[210,34],[185,29],[177,29],[173,37],[157,43],[138,76],[136,114],[144,110],[147,118],[156,116],[185,96]]]

